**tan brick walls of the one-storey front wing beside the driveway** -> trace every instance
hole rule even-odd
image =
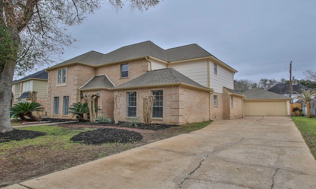
[[[153,118],[152,123],[181,125],[209,120],[208,93],[175,86],[119,91],[118,121],[125,121],[127,117],[128,92],[136,92],[137,116],[143,116],[142,97],[155,90],[163,90],[163,118]]]

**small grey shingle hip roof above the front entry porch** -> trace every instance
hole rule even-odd
[[[97,75],[94,76],[90,81],[88,81],[85,85],[80,87],[80,90],[89,90],[89,89],[109,89],[114,88],[114,85],[107,78],[106,75]]]

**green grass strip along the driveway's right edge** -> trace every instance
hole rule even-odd
[[[306,117],[292,117],[292,120],[302,133],[302,136],[311,149],[314,158],[316,158],[316,119]]]

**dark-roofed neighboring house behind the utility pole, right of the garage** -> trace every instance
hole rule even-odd
[[[292,85],[291,97],[294,98],[294,100],[293,100],[294,103],[298,101],[298,99],[295,99],[295,98],[296,98],[296,96],[298,96],[297,93],[302,94],[302,89],[305,91],[307,91],[307,90],[314,91],[314,89],[306,87],[304,85],[300,85],[300,84]],[[289,97],[290,96],[290,84],[289,83],[276,84],[271,89],[269,89],[269,91]],[[295,92],[297,92],[297,93],[295,93]]]

